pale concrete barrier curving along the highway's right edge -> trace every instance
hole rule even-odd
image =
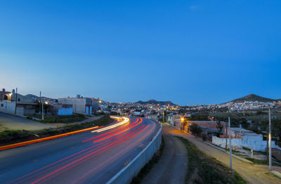
[[[133,177],[137,176],[139,171],[147,164],[161,145],[162,124],[152,141],[141,151],[129,164],[127,164],[119,173],[113,176],[107,184],[110,183],[130,183]]]

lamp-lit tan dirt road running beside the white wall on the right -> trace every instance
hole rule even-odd
[[[195,144],[206,155],[218,159],[218,161],[223,162],[224,164],[226,164],[226,166],[230,166],[229,155],[225,152],[217,150],[216,148],[211,147],[200,140],[197,140],[195,137],[187,135],[167,124],[163,126],[163,129],[169,129],[170,135],[182,136],[183,138],[190,140],[191,143]],[[242,162],[241,160],[233,157],[233,169],[235,169],[235,171],[237,171],[237,173],[239,173],[240,176],[242,176],[242,178],[247,181],[247,183],[281,183],[281,180],[279,178],[268,174],[269,171],[267,166]]]

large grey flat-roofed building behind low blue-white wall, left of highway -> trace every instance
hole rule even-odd
[[[93,103],[91,98],[77,95],[75,98],[58,98],[62,105],[72,105],[72,112],[77,114],[93,114]]]

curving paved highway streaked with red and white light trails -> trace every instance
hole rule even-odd
[[[158,130],[155,121],[130,117],[113,129],[1,151],[0,183],[106,183]]]

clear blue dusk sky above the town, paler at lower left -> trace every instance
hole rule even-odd
[[[281,1],[0,1],[0,87],[53,98],[281,98]]]

